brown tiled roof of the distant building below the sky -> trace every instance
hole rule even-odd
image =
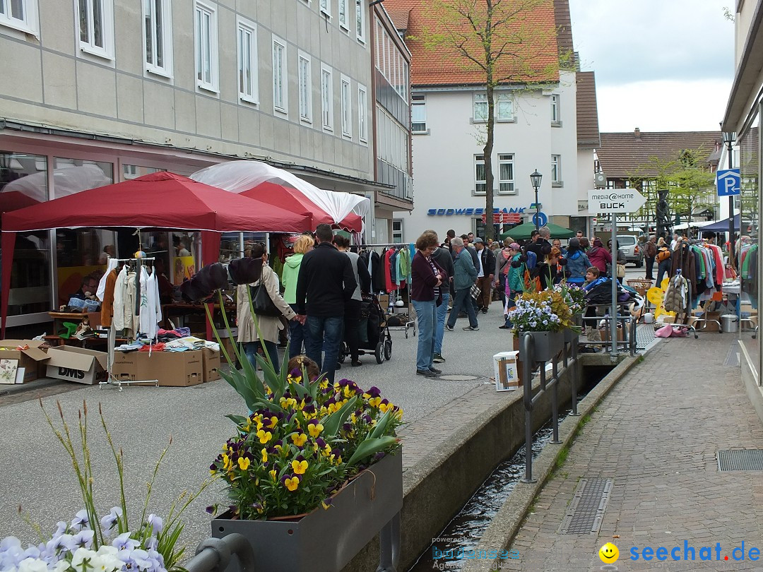
[[[596,154],[607,178],[656,177],[659,173],[653,157],[668,162],[678,159],[683,150],[702,149],[707,153],[703,153],[703,164],[713,166],[718,163],[722,145],[720,131],[642,133],[636,127],[629,133],[601,133]]]

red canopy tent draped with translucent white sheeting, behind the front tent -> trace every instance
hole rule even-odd
[[[360,233],[371,201],[358,194],[327,191],[283,169],[259,161],[218,163],[191,175],[195,181],[256,198],[311,217],[311,227],[327,223]]]

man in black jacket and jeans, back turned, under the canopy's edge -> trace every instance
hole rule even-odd
[[[344,308],[357,286],[349,257],[331,243],[327,224],[315,230],[317,246],[302,259],[297,278],[297,313],[307,326],[305,352],[333,384],[336,361],[344,336]],[[307,298],[307,304],[305,304]],[[321,360],[322,352],[326,358]]]

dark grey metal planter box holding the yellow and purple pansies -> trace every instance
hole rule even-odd
[[[298,521],[214,519],[212,536],[244,535],[255,570],[336,572],[371,541],[403,506],[402,449],[387,455],[350,481],[330,508]],[[233,559],[227,572],[240,570]]]

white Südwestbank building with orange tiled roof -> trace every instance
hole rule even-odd
[[[438,60],[418,39],[427,25],[426,7],[410,0],[385,2],[398,29],[414,40],[407,45],[412,56],[412,131],[414,210],[396,213],[405,241],[415,240],[422,230],[446,230],[456,234],[474,231],[484,236],[481,215],[485,211],[485,145],[487,101],[484,76],[465,72],[460,64]],[[571,53],[569,8],[566,0],[553,7],[536,8],[549,30],[559,27],[555,53]],[[545,12],[544,12],[545,11]],[[542,12],[542,14],[541,14]],[[550,12],[550,13],[547,13]],[[544,18],[545,17],[545,18]],[[538,191],[541,222],[582,228],[578,201],[593,188],[597,145],[593,74],[585,76],[588,110],[584,120],[588,142],[578,137],[578,73],[554,72],[538,84],[503,84],[496,88],[494,139],[494,207],[515,222],[533,220],[536,195],[530,173],[540,172]],[[579,147],[581,153],[578,153]],[[581,204],[581,207],[585,207]],[[513,217],[508,217],[513,214]],[[588,213],[584,213],[583,216]],[[518,220],[517,220],[518,219]]]

